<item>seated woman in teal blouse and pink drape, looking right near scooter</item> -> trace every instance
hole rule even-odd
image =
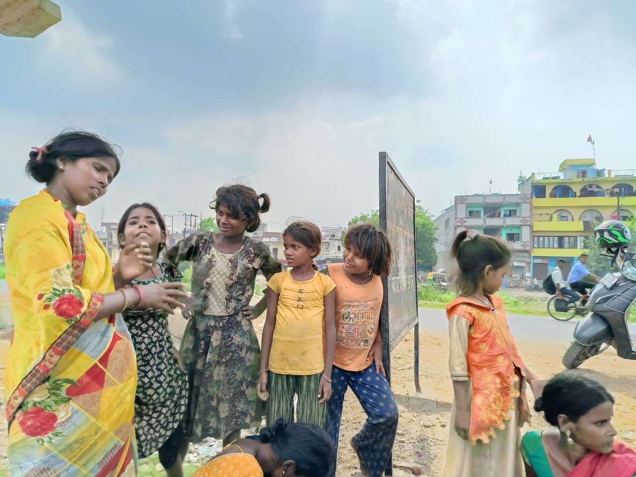
[[[636,475],[636,453],[614,442],[614,397],[595,380],[560,373],[546,384],[534,409],[554,428],[523,436],[527,477]]]

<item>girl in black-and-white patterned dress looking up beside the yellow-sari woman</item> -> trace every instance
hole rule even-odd
[[[181,281],[181,272],[158,260],[167,230],[154,205],[133,204],[117,228],[120,247],[135,244],[149,247],[155,263],[148,272],[132,280],[131,286]],[[183,418],[188,402],[188,379],[172,345],[168,312],[149,308],[128,308],[123,312],[137,351],[135,433],[141,459],[159,452],[169,477],[183,476]]]

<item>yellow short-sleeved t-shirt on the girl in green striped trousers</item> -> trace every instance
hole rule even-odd
[[[336,284],[317,272],[310,280],[296,282],[287,270],[276,273],[267,287],[279,295],[268,363],[270,371],[298,376],[322,373],[324,297]]]

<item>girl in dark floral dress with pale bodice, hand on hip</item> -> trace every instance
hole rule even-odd
[[[261,424],[263,405],[256,395],[260,349],[251,320],[265,311],[267,294],[256,307],[249,302],[258,270],[270,279],[281,265],[262,242],[245,236],[260,225],[259,214],[269,210],[268,195],[240,184],[221,187],[211,207],[219,232],[191,235],[170,248],[165,259],[174,265],[193,262],[193,319],[181,342],[190,384],[185,438],[199,442],[212,437],[228,445],[241,429]]]

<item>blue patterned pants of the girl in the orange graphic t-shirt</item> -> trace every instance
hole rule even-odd
[[[327,432],[338,452],[340,420],[345,392],[350,387],[368,416],[363,428],[354,436],[358,456],[371,477],[380,477],[389,462],[397,432],[397,403],[389,382],[375,370],[346,371],[333,366],[333,394],[327,401]]]

